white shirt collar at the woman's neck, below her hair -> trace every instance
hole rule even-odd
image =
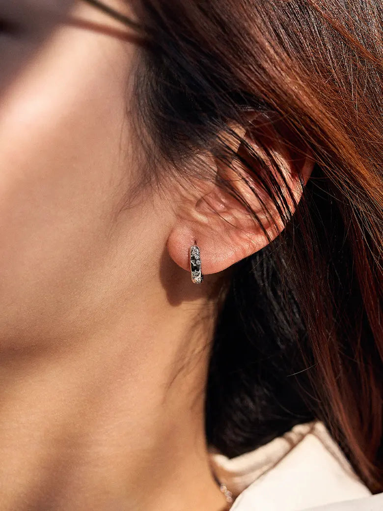
[[[318,421],[231,459],[209,455],[235,497],[231,511],[383,511],[383,494],[371,495]]]

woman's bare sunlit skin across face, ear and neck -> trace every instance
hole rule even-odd
[[[2,510],[221,511],[203,409],[215,289],[267,241],[204,181],[133,194],[137,45],[108,33],[129,30],[81,2],[49,5],[93,30],[28,4],[36,33],[1,42]]]

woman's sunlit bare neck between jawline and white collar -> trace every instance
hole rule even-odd
[[[204,431],[211,323],[197,340],[200,307],[166,303],[54,351],[1,354],[3,511],[225,508]]]

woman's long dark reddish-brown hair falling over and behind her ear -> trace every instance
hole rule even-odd
[[[209,444],[232,457],[319,419],[371,491],[382,491],[381,2],[134,7],[148,41],[134,77],[138,138],[153,169],[147,182],[169,172],[187,182],[206,177],[200,151],[227,165],[236,158],[285,225],[223,285],[206,389]],[[245,137],[246,158],[225,143],[233,122],[251,129],[247,111],[275,132],[283,121],[314,154],[294,215],[261,130],[253,137],[271,166]],[[229,181],[219,184],[250,207]]]

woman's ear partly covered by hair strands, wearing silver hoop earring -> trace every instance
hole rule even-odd
[[[215,179],[214,176],[212,180],[198,179],[194,189],[180,201],[167,249],[171,258],[187,271],[189,247],[195,243],[201,250],[204,275],[223,271],[265,247],[283,230],[285,219],[261,183],[268,182],[269,188],[278,183],[285,203],[294,213],[312,173],[313,154],[288,125],[259,113],[248,119],[249,126],[233,125],[233,135],[224,135],[225,143],[235,154],[232,161],[206,156]],[[281,174],[272,160],[277,162]],[[260,173],[263,180],[257,178]],[[230,182],[234,194],[222,187],[225,181]],[[252,211],[235,195],[244,198]]]

